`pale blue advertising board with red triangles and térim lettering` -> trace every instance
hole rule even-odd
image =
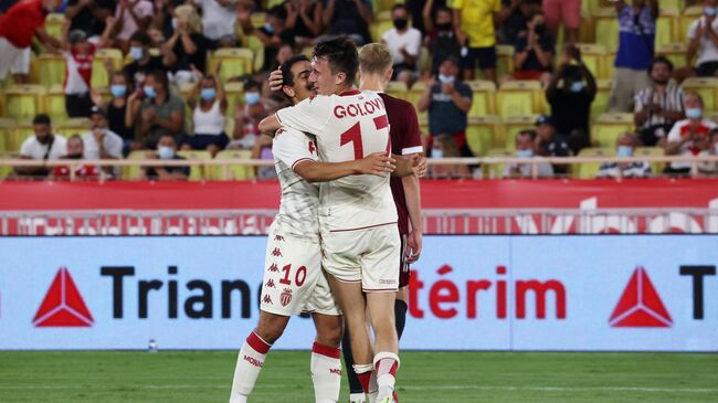
[[[404,349],[718,351],[718,235],[427,236]],[[0,349],[236,349],[265,237],[0,237]],[[306,349],[295,318],[278,349]]]

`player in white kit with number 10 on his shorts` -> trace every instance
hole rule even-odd
[[[283,91],[293,103],[314,94],[309,72],[305,56],[284,64]],[[384,178],[394,169],[394,160],[377,152],[360,160],[319,162],[314,139],[293,129],[277,131],[272,151],[282,187],[281,208],[270,229],[260,321],[240,350],[230,402],[246,402],[272,343],[282,336],[289,317],[302,311],[313,312],[317,330],[310,362],[315,401],[336,402],[341,379],[341,312],[321,272],[319,189],[310,181],[352,174]]]

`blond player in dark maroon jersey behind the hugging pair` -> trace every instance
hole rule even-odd
[[[370,43],[359,51],[359,70],[361,72],[361,91],[376,91],[380,93],[387,107],[389,118],[389,136],[391,137],[391,151],[394,155],[409,157],[423,155],[419,129],[416,109],[410,103],[394,98],[383,93],[391,79],[393,59],[389,47],[384,44]],[[391,178],[391,192],[399,214],[399,234],[401,236],[401,263],[399,267],[399,291],[394,303],[394,318],[397,335],[401,339],[406,321],[406,286],[409,285],[409,265],[419,259],[422,244],[421,198],[419,193],[419,178],[410,176]],[[349,332],[345,329],[341,342],[347,377],[351,394],[350,402],[367,401],[361,384],[352,370],[353,359],[349,343]],[[373,382],[372,382],[373,383]],[[373,384],[370,393],[374,392]],[[369,400],[370,401],[370,400]]]

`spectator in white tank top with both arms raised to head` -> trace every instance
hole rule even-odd
[[[190,108],[194,110],[194,136],[187,138],[183,147],[194,150],[208,150],[212,158],[230,142],[224,132],[224,116],[226,115],[226,97],[222,81],[218,74],[198,75],[197,85],[189,99]],[[199,96],[199,102],[198,102]]]

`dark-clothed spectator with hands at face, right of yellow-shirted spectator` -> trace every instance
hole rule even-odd
[[[556,42],[546,30],[543,14],[534,13],[519,33],[515,44],[514,79],[540,79],[543,86],[551,81]]]

